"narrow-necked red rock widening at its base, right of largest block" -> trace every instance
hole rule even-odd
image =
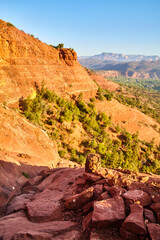
[[[127,232],[138,235],[147,235],[143,218],[143,207],[138,204],[130,205],[131,213],[122,224],[122,228]]]

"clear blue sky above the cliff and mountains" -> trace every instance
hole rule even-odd
[[[79,56],[160,55],[160,0],[0,0],[0,19]]]

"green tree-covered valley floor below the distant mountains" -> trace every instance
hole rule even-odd
[[[160,80],[125,77],[107,79],[120,84],[119,92],[115,93],[120,103],[136,107],[160,123]]]

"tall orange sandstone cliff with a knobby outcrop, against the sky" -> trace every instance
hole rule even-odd
[[[61,95],[97,90],[74,50],[57,50],[0,20],[0,102],[27,97],[42,81]]]

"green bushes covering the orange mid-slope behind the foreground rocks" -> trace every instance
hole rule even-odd
[[[97,98],[110,100],[107,93],[99,89]],[[43,85],[34,98],[22,100],[20,107],[26,118],[57,141],[61,157],[84,164],[88,153],[98,153],[103,166],[160,174],[160,146],[140,142],[138,134],[114,126],[109,116],[96,111],[94,101],[85,103],[82,94],[68,101]],[[77,129],[80,137],[75,134]],[[109,130],[115,133],[114,139]]]

